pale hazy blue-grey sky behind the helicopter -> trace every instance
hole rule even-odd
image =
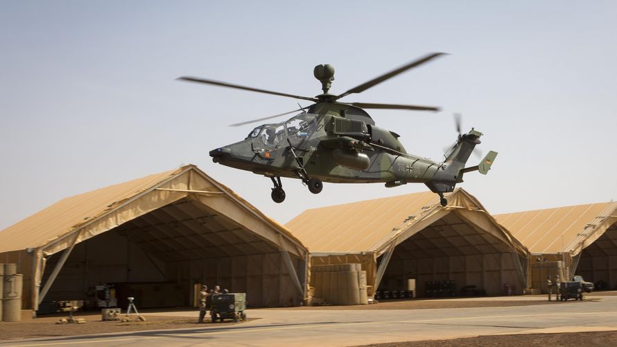
[[[196,164],[286,223],[308,208],[424,192],[422,184],[324,183],[215,164],[208,152],[297,101],[175,81],[197,76],[315,96],[331,64],[340,94],[446,52],[344,101],[370,110],[408,153],[442,160],[457,133],[499,155],[458,185],[494,214],[617,198],[616,1],[0,1],[0,230],[67,196]],[[301,105],[308,105],[300,101]],[[285,117],[277,119],[284,121]],[[473,156],[469,160],[478,161]]]

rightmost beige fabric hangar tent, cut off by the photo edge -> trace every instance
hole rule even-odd
[[[495,219],[531,253],[564,262],[568,275],[617,288],[617,202],[498,214]]]

